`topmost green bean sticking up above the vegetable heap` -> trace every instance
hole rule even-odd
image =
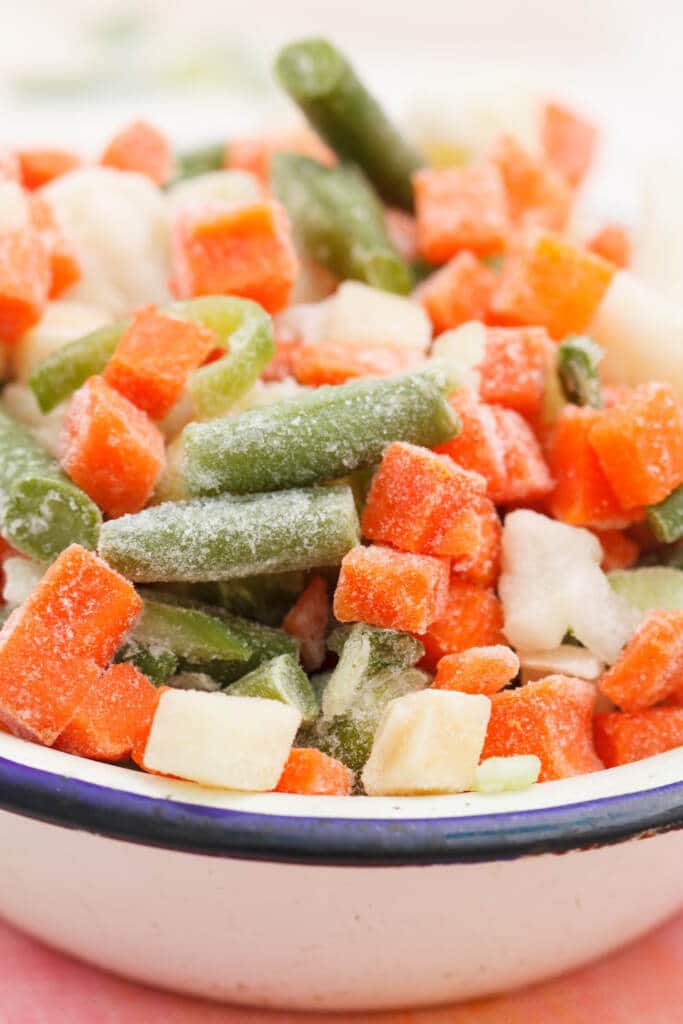
[[[326,39],[305,39],[280,52],[275,71],[335,153],[358,164],[385,202],[412,210],[411,177],[424,160],[343,54]]]

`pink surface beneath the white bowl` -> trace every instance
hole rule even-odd
[[[513,995],[379,1014],[378,1024],[673,1024],[683,1001],[683,913],[600,963]],[[153,991],[0,924],[3,1024],[335,1024],[367,1015],[268,1013]]]

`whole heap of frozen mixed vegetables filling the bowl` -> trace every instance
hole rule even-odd
[[[496,793],[683,745],[683,359],[596,133],[0,159],[0,728],[244,791]],[[446,133],[447,134],[447,133]]]

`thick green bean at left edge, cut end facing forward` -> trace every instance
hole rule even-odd
[[[97,506],[65,476],[28,427],[0,410],[0,524],[22,554],[52,561],[70,544],[94,548]]]

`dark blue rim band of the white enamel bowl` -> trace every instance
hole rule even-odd
[[[112,788],[0,758],[0,808],[183,853],[286,863],[399,866],[563,853],[683,827],[683,780],[544,809],[471,817],[260,814]]]

